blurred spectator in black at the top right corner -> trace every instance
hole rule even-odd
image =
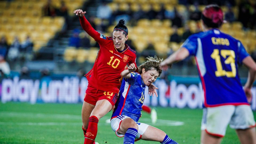
[[[239,5],[238,21],[243,24],[243,28],[248,27],[248,22],[250,19],[250,7],[250,3],[247,0],[241,2]]]

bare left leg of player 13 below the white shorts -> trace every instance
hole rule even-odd
[[[222,137],[215,137],[207,134],[205,130],[201,131],[201,144],[219,144],[221,143]]]

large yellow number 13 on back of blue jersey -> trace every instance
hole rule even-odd
[[[225,64],[230,64],[231,71],[225,71],[222,68],[221,64],[221,57],[219,55],[219,50],[214,49],[213,53],[211,54],[211,58],[215,59],[217,71],[215,71],[216,77],[235,77],[237,74],[236,68],[235,68],[235,52],[233,50],[221,50],[221,56],[225,58]]]

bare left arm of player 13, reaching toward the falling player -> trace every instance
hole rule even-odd
[[[175,53],[171,54],[168,58],[162,61],[160,64],[160,67],[163,70],[167,70],[168,66],[170,66],[172,63],[181,61],[188,56],[189,56],[189,51],[186,48],[181,47],[180,49],[175,51]]]

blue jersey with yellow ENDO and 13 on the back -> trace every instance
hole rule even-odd
[[[191,35],[182,47],[195,56],[204,107],[249,105],[238,75],[238,63],[249,54],[240,41],[211,29]]]

